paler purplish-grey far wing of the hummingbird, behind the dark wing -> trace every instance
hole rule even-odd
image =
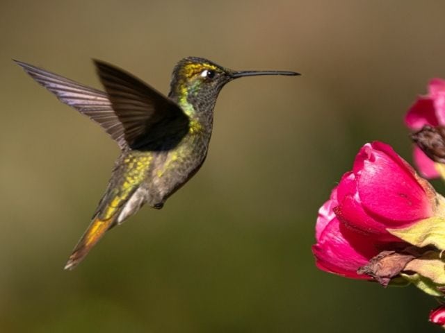
[[[111,101],[105,92],[81,85],[73,80],[57,74],[45,71],[39,67],[15,60],[18,65],[28,73],[35,81],[55,94],[63,103],[75,108],[81,114],[99,123],[121,149],[127,147],[125,141],[124,126],[115,114]]]

